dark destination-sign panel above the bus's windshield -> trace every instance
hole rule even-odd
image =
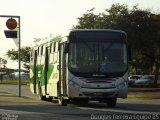
[[[127,42],[127,34],[122,30],[112,29],[77,29],[69,34],[70,42],[101,41],[101,42]]]

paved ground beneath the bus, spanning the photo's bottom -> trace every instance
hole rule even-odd
[[[42,102],[32,95],[29,86],[0,85],[0,120],[159,120],[159,99],[118,99],[115,108],[90,102],[86,105]]]

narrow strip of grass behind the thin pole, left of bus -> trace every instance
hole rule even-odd
[[[0,80],[0,84],[11,84],[11,85],[17,85],[18,80]],[[29,80],[21,80],[21,85],[27,85],[29,84]]]

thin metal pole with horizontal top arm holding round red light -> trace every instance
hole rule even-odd
[[[19,29],[19,37],[18,37],[18,64],[19,64],[19,76],[18,76],[18,91],[19,91],[19,97],[21,97],[21,59],[20,59],[20,53],[21,53],[21,30],[20,30],[20,16],[13,16],[13,15],[0,15],[0,17],[5,18],[17,18],[18,19],[18,29]]]

